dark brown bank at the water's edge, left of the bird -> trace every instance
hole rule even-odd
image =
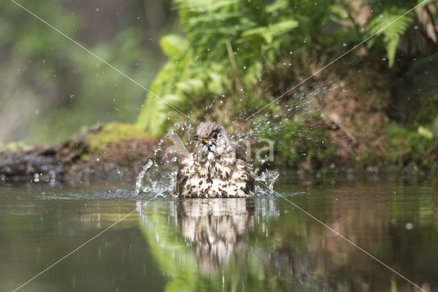
[[[4,151],[0,152],[0,180],[56,180],[75,184],[83,180],[106,180],[112,173],[120,180],[129,180],[154,155],[155,146],[154,139],[131,138],[107,143],[99,152],[90,151],[84,141],[66,141],[27,151]]]

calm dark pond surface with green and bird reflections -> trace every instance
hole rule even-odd
[[[276,190],[438,291],[436,186]],[[135,196],[131,185],[0,186],[0,291],[418,291],[279,195]],[[136,210],[137,208],[137,210]]]

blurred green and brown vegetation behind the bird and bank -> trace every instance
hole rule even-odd
[[[436,169],[435,1],[20,3],[194,121],[274,140],[289,167]],[[0,6],[0,142],[59,142],[110,121],[157,137],[187,122],[14,3]]]

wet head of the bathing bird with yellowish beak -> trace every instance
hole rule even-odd
[[[218,123],[206,121],[198,125],[196,135],[193,137],[196,143],[196,159],[201,164],[213,163],[216,159],[232,151],[227,131]]]

